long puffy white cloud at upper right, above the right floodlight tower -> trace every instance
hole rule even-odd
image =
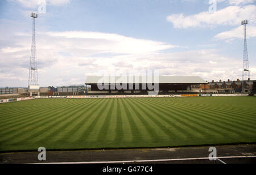
[[[188,27],[216,27],[217,25],[238,25],[243,19],[256,23],[256,6],[228,6],[217,10],[213,14],[208,11],[188,15],[172,14],[167,16],[167,21],[174,24],[174,28]]]

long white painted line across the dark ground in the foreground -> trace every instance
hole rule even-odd
[[[221,156],[210,157],[210,159],[249,158],[256,156]],[[57,163],[36,163],[36,164],[113,164],[113,163],[143,163],[156,161],[179,161],[179,160],[204,160],[209,157],[181,158],[181,159],[154,159],[154,160],[119,160],[119,161],[79,161],[79,162],[57,162]]]

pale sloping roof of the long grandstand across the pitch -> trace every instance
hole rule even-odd
[[[85,84],[98,83],[188,83],[188,84],[207,84],[199,76],[88,76]]]

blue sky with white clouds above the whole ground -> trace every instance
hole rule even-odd
[[[256,0],[1,0],[0,87],[26,87],[32,18],[41,87],[102,71],[242,79],[243,26],[256,79]]]

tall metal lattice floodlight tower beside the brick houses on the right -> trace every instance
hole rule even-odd
[[[249,61],[248,61],[248,52],[247,52],[247,41],[246,41],[246,24],[248,20],[243,20],[243,83],[242,88],[245,88],[245,80],[250,80],[250,70],[249,70]]]

